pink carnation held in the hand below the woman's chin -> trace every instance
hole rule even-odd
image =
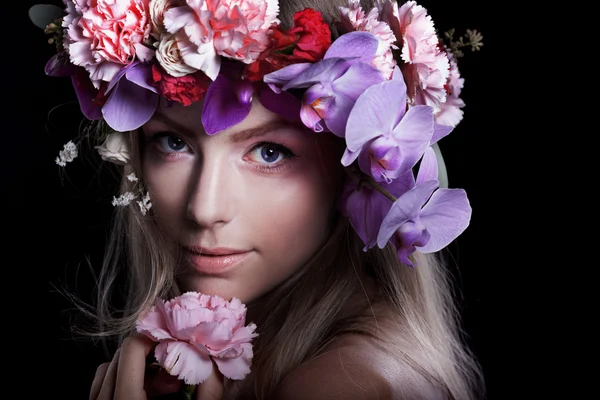
[[[137,331],[158,342],[154,355],[185,383],[204,382],[212,360],[230,379],[243,379],[252,363],[255,324],[244,326],[246,306],[236,298],[187,292],[156,305],[137,322]]]

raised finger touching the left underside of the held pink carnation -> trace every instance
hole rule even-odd
[[[146,357],[153,348],[154,342],[141,335],[130,336],[123,341],[114,400],[146,399],[144,392]]]

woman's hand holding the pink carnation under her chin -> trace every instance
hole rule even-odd
[[[90,400],[147,400],[181,390],[183,381],[163,368],[146,364],[155,345],[142,335],[125,339],[112,361],[96,370]],[[212,374],[198,385],[195,399],[221,400],[222,397],[223,376],[213,364]]]

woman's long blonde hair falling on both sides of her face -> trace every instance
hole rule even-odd
[[[313,7],[331,22],[337,6],[346,4],[345,0],[280,0],[280,19],[290,26],[295,11]],[[362,5],[368,9],[372,3]],[[335,29],[333,33],[337,34]],[[131,185],[127,174],[143,176],[139,136],[131,134],[133,163],[121,167],[123,192]],[[120,342],[156,298],[180,294],[177,262],[161,250],[166,248],[164,242],[151,214],[144,216],[134,206],[116,208],[97,284],[97,336],[117,337]],[[269,312],[254,321],[259,336],[247,387],[258,399],[268,399],[294,368],[339,335],[353,333],[380,341],[390,354],[444,388],[450,398],[482,398],[482,374],[464,343],[451,276],[439,255],[415,253],[418,266],[410,268],[398,261],[390,246],[367,252],[363,246],[347,218],[337,214],[328,240],[312,260],[266,297],[262,307]],[[376,329],[372,299],[365,297],[361,280],[365,274],[378,288],[378,299],[393,310],[393,335]],[[363,307],[349,309],[346,305],[357,295],[363,296]]]

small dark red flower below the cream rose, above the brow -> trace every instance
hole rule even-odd
[[[158,64],[152,65],[152,79],[167,100],[177,101],[184,106],[200,100],[211,83],[210,78],[201,71],[174,77]]]

